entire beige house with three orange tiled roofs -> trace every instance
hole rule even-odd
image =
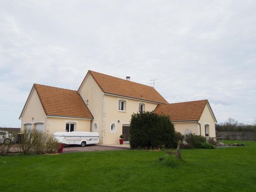
[[[169,104],[151,86],[91,70],[77,91],[34,84],[20,120],[22,128],[50,133],[97,131],[100,143],[117,144],[121,134],[128,141],[131,114],[142,111],[168,115],[182,134],[190,129],[215,137],[216,119],[207,100]]]

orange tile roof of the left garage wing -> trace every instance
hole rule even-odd
[[[93,119],[77,91],[38,84],[34,88],[46,115]]]

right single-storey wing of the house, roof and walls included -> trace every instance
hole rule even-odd
[[[216,137],[217,120],[208,100],[158,105],[155,113],[167,115],[182,134],[189,129],[198,135]]]

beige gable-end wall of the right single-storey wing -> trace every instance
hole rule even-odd
[[[205,129],[204,126],[206,124],[209,125],[209,136],[210,137],[216,137],[216,132],[215,132],[215,121],[213,118],[213,115],[211,114],[210,108],[208,106],[208,104],[205,106],[202,116],[200,118],[200,120],[198,121],[198,123],[201,124],[201,135],[205,136]]]

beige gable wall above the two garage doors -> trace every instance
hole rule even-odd
[[[32,120],[33,117],[33,120]],[[24,108],[23,114],[21,116],[21,128],[24,128],[24,124],[32,124],[32,128],[35,128],[35,123],[43,123],[43,130],[46,128],[46,116],[43,110],[43,106],[40,99],[32,88],[31,95],[28,99],[27,105]]]

